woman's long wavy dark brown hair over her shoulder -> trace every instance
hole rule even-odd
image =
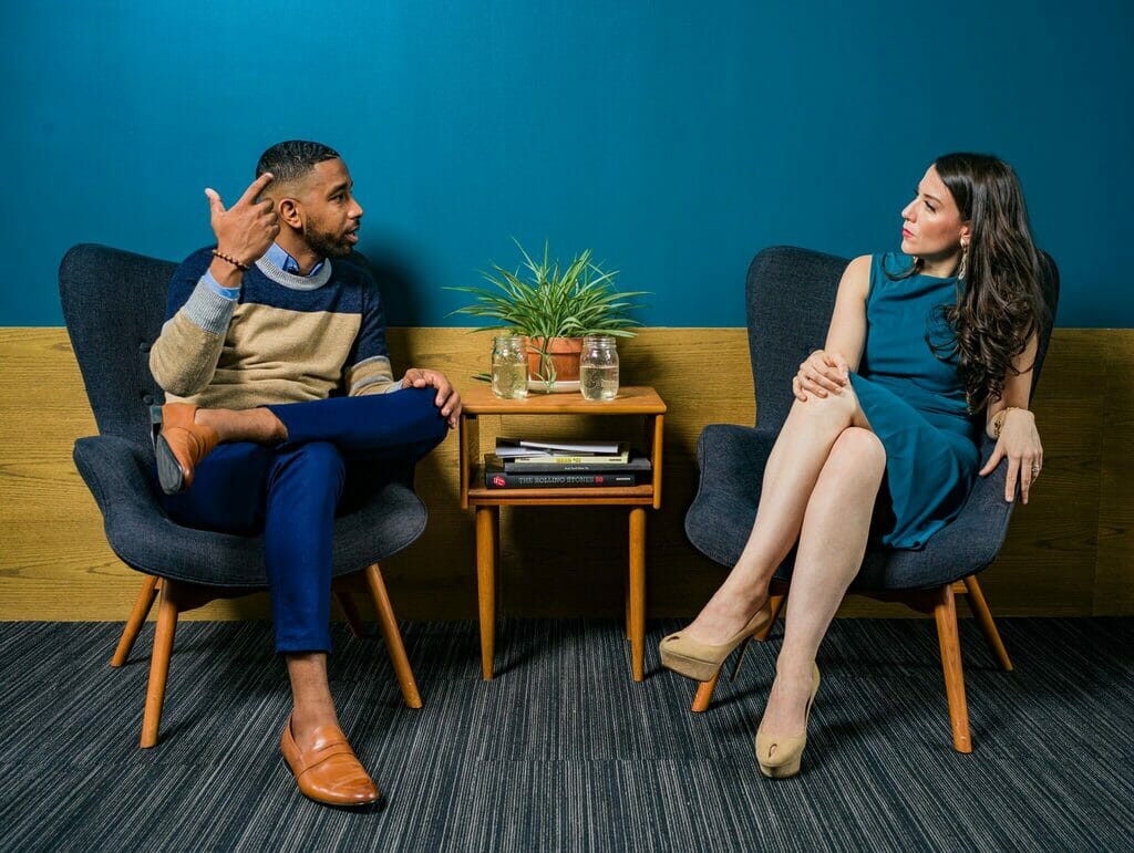
[[[1010,165],[987,154],[946,154],[933,165],[962,222],[970,223],[970,239],[957,301],[938,307],[953,338],[942,343],[926,335],[926,341],[938,358],[957,358],[968,409],[976,412],[1004,395],[1009,373],[1022,373],[1013,360],[1043,325],[1040,262]],[[907,274],[921,267],[917,258]]]

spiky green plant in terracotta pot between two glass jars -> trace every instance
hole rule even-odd
[[[492,272],[481,276],[492,287],[454,287],[475,297],[473,305],[458,308],[454,314],[489,317],[496,323],[480,326],[477,332],[509,330],[527,339],[528,373],[545,383],[551,391],[557,379],[578,379],[578,357],[583,335],[610,334],[633,338],[641,325],[627,312],[642,306],[633,304],[634,297],[649,291],[618,292],[613,289],[616,270],[604,271],[591,261],[591,249],[585,249],[570,263],[561,265],[551,259],[548,242],[543,244],[543,259],[535,261],[519,240],[513,242],[523,255],[523,265],[509,272],[498,264]]]

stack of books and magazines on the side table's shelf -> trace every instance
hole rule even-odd
[[[484,457],[488,488],[595,488],[651,480],[650,458],[611,442],[497,438]]]

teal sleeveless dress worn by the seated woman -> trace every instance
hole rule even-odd
[[[926,336],[948,344],[936,318],[957,299],[956,278],[891,280],[913,258],[873,255],[866,297],[866,341],[850,384],[886,449],[886,477],[872,536],[895,548],[921,548],[956,518],[980,467],[980,423],[968,413],[955,358],[942,361]]]

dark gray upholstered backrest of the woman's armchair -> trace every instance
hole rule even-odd
[[[839,280],[849,261],[790,246],[773,246],[748,266],[748,351],[756,391],[756,425],[778,433],[792,408],[792,377],[813,350],[822,348],[835,310]],[[1048,316],[1032,374],[1032,393],[1047,356],[1059,301],[1059,270],[1040,253],[1040,283]]]

